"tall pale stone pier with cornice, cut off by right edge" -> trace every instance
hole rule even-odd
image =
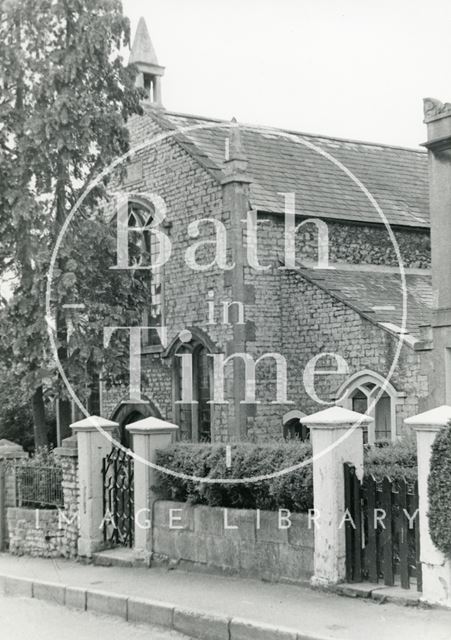
[[[429,408],[451,403],[451,104],[424,100],[429,152],[432,252],[432,358]]]

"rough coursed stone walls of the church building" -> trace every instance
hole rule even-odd
[[[150,139],[163,129],[149,114],[130,121],[132,146]],[[205,160],[205,158],[204,158]],[[221,220],[230,228],[230,211],[224,205],[223,189],[208,167],[202,166],[175,139],[160,142],[157,147],[135,154],[128,180],[123,189],[143,193],[153,191],[165,198],[169,226],[165,229],[172,242],[173,254],[163,268],[164,316],[171,341],[178,332],[195,326],[204,331],[218,352],[230,355],[233,332],[230,325],[208,324],[207,302],[209,290],[214,291],[216,316],[221,303],[231,300],[233,271],[221,272],[210,268],[194,272],[186,264],[184,254],[193,244],[187,226],[200,218]],[[244,216],[244,214],[243,214]],[[259,213],[258,256],[269,270],[258,272],[245,268],[245,350],[254,358],[278,352],[288,359],[289,399],[294,404],[274,404],[274,363],[264,361],[258,367],[257,399],[260,404],[246,406],[247,436],[254,441],[280,439],[283,434],[283,415],[292,409],[304,413],[317,410],[305,393],[302,371],[307,361],[320,352],[332,350],[350,360],[350,375],[372,369],[386,375],[395,349],[395,338],[380,327],[361,318],[343,303],[327,293],[307,284],[296,275],[280,270],[284,250],[284,219],[282,215]],[[329,260],[331,263],[373,264],[397,266],[395,251],[386,228],[381,225],[353,224],[346,221],[327,221],[329,230]],[[398,227],[393,230],[398,241],[404,266],[427,268],[430,265],[430,238],[426,229]],[[201,230],[200,238],[212,239],[212,228]],[[243,233],[243,252],[248,238]],[[297,256],[301,260],[317,259],[317,230],[313,224],[304,226],[296,236]],[[203,258],[212,256],[208,249]],[[174,411],[173,358],[160,354],[143,357],[143,395],[147,397],[163,419],[177,422]],[[227,370],[229,376],[231,367]],[[333,400],[332,384],[338,388],[337,377],[320,382],[322,391]],[[398,422],[415,413],[419,398],[427,394],[426,377],[419,367],[418,356],[404,347],[393,377],[394,386],[405,394],[397,406]],[[326,389],[327,387],[327,389]],[[226,399],[232,400],[230,379],[226,380]],[[127,390],[113,388],[103,394],[103,415],[115,418],[118,403]],[[212,408],[212,439],[229,441],[233,432],[229,425],[234,414],[230,405]],[[401,426],[399,426],[401,428]]]

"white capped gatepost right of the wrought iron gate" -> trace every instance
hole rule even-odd
[[[152,556],[153,505],[156,500],[153,487],[156,485],[156,470],[147,462],[156,462],[158,449],[165,449],[173,441],[178,426],[158,418],[144,418],[126,427],[133,437],[135,453],[134,499],[135,499],[135,554],[136,558],[148,562]]]

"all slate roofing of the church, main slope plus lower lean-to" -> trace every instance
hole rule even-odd
[[[170,129],[185,129],[178,141],[218,180],[224,166],[229,129],[224,121],[168,111],[152,117]],[[226,123],[229,124],[229,123]],[[187,127],[198,128],[186,131]],[[427,153],[369,142],[304,134],[240,123],[249,162],[251,205],[259,211],[283,213],[280,193],[296,194],[296,213],[308,217],[381,224],[363,190],[337,166],[342,164],[376,199],[390,225],[429,228]],[[326,155],[324,155],[326,154]],[[402,327],[401,276],[396,269],[370,265],[334,265],[334,269],[299,268],[301,275],[384,330]],[[419,339],[430,324],[430,272],[406,272],[406,341]]]

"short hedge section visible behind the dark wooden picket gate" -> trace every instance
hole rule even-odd
[[[396,442],[366,446],[365,473],[371,473],[378,481],[388,476],[392,480],[405,478],[408,483],[414,483],[418,477],[415,436],[409,434]]]

